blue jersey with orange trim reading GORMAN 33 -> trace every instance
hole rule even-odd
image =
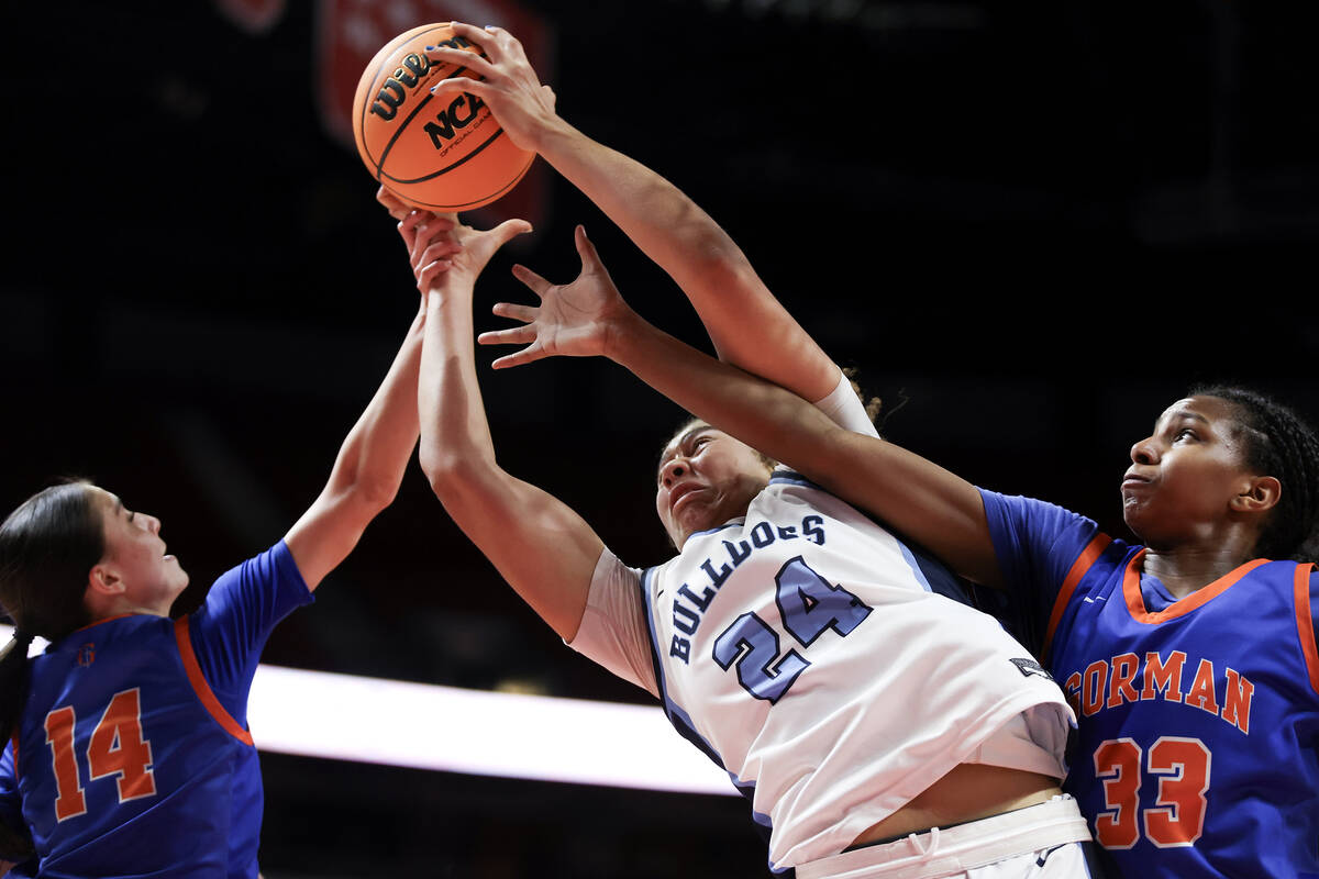
[[[1142,576],[1144,547],[981,494],[1076,712],[1066,788],[1122,875],[1319,876],[1312,565],[1257,559],[1175,601]]]

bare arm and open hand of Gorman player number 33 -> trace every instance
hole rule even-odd
[[[580,228],[578,253],[582,273],[567,285],[514,270],[539,303],[496,306],[497,314],[521,322],[481,335],[481,344],[521,345],[496,366],[553,354],[603,354],[692,415],[877,515],[962,576],[1000,585],[984,503],[973,485],[919,455],[851,432],[798,394],[660,331],[627,306]]]

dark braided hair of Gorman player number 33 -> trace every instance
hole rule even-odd
[[[1282,484],[1254,553],[1264,559],[1319,560],[1319,438],[1291,409],[1245,387],[1196,387],[1192,395],[1232,403],[1245,464]]]

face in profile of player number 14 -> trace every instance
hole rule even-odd
[[[187,586],[187,573],[178,559],[165,552],[161,522],[137,513],[103,489],[98,493],[102,528],[106,534],[106,565],[124,584],[124,594],[136,608],[169,615],[174,598]]]

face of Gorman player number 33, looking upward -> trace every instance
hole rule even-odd
[[[1231,403],[1190,397],[1167,407],[1154,434],[1132,447],[1122,518],[1153,550],[1216,546],[1229,503],[1250,490]]]

